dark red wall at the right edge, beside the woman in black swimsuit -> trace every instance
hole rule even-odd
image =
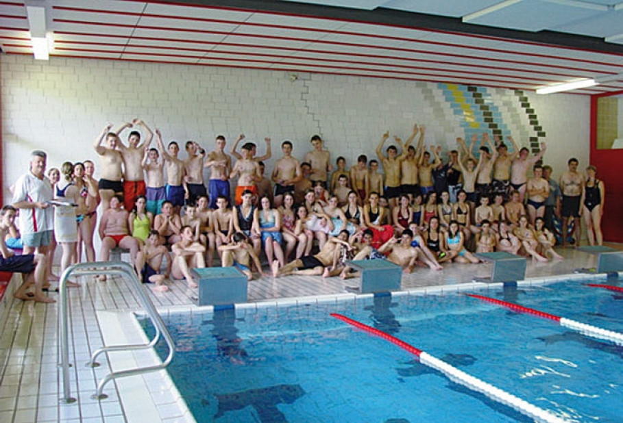
[[[623,149],[597,149],[597,99],[623,91],[598,94],[591,97],[591,164],[597,167],[597,177],[604,181],[606,201],[602,218],[604,240],[623,242]],[[578,169],[580,170],[580,169]]]

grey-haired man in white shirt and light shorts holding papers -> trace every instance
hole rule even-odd
[[[45,177],[47,155],[35,150],[30,155],[30,171],[15,183],[13,207],[21,209],[19,231],[24,254],[45,255],[52,240],[54,214],[49,205],[53,198],[52,184]],[[49,279],[51,266],[45,266],[44,281]]]

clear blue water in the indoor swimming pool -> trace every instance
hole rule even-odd
[[[474,292],[623,332],[623,296],[578,282]],[[460,294],[164,316],[177,349],[169,372],[196,420],[530,421],[330,313],[391,333],[567,420],[623,420],[622,346]]]

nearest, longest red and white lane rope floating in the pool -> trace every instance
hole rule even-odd
[[[353,320],[351,318],[347,318],[342,314],[331,313],[331,316],[346,322],[352,326],[355,326],[358,329],[366,331],[367,333],[371,333],[382,339],[385,339],[392,344],[399,346],[400,348],[411,352],[413,355],[419,357],[419,362],[433,368],[443,374],[445,374],[448,379],[455,383],[459,383],[473,391],[480,392],[481,394],[485,394],[489,398],[501,402],[502,404],[511,407],[520,413],[527,415],[529,418],[533,418],[537,420],[537,422],[552,422],[552,423],[562,423],[567,422],[563,418],[559,418],[557,415],[552,414],[550,411],[541,409],[536,405],[530,404],[513,394],[509,394],[509,392],[503,391],[502,389],[495,387],[485,381],[481,381],[480,379],[471,376],[455,368],[454,366],[450,366],[450,364],[433,357],[425,351],[420,350],[419,348],[415,348],[411,344],[407,344],[402,339],[398,339],[397,337],[390,335],[387,332],[380,331],[379,329],[373,328],[372,326],[368,326],[367,324],[363,324],[358,322],[357,320]]]

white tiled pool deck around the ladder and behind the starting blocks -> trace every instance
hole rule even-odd
[[[622,244],[608,244],[623,250]],[[596,256],[573,248],[557,250],[564,260],[537,263],[528,260],[526,279],[571,274],[578,268],[596,265]],[[426,287],[448,287],[471,283],[476,278],[490,276],[491,264],[448,264],[443,270],[417,268],[402,278],[402,290]],[[130,368],[136,363],[156,363],[154,352],[110,353],[101,355],[98,368],[84,363],[90,354],[106,344],[144,342],[136,331],[136,320],[130,312],[141,311],[136,294],[119,277],[102,283],[80,280],[80,288],[69,290],[71,315],[70,361],[73,404],[59,401],[62,397],[62,377],[58,368],[59,303],[45,305],[12,298],[14,283],[10,283],[0,304],[0,421],[1,422],[193,422],[192,415],[179,400],[164,371],[130,376],[106,385],[105,400],[94,400],[97,381],[110,368]],[[293,298],[342,296],[352,294],[350,287],[358,279],[343,281],[338,277],[264,277],[248,287],[249,303],[279,303]],[[49,293],[58,300],[58,294]],[[151,300],[160,313],[178,309],[195,309],[197,290],[180,281],[169,292],[151,292]],[[118,328],[123,327],[123,331]]]

